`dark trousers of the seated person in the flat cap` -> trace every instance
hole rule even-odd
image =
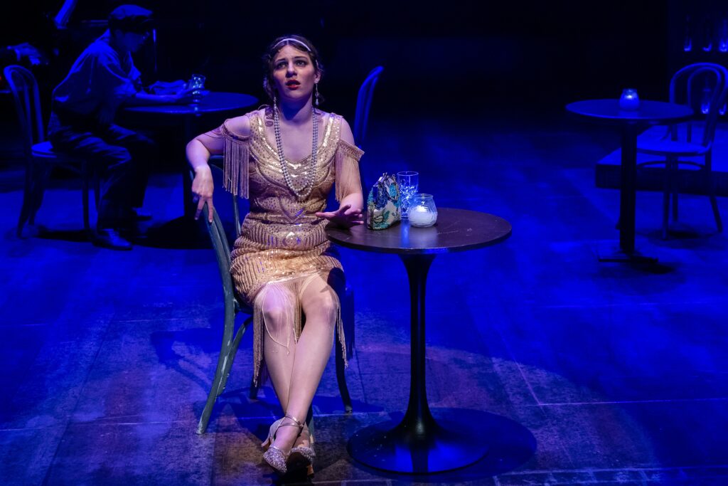
[[[54,149],[83,157],[102,171],[97,227],[127,223],[131,208],[141,208],[144,201],[150,165],[157,158],[154,141],[119,125],[69,123],[55,113],[48,131]]]

